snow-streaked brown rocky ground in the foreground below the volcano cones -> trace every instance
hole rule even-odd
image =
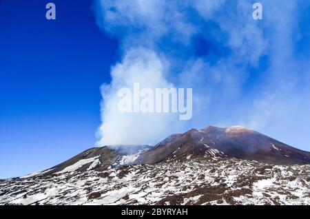
[[[0,180],[0,205],[310,205],[310,165],[225,157]]]

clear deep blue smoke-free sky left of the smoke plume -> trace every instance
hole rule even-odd
[[[99,87],[117,42],[101,32],[92,1],[0,1],[0,178],[44,169],[93,147]]]

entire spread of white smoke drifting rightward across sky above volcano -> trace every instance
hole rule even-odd
[[[123,54],[112,67],[112,83],[101,89],[99,145],[157,143],[168,134],[206,125],[245,125],[281,140],[276,118],[285,116],[285,123],[293,125],[294,113],[285,109],[296,110],[307,102],[307,90],[296,94],[302,78],[291,76],[304,65],[292,49],[292,36],[298,32],[296,1],[260,1],[262,21],[252,19],[254,2],[245,0],[95,2],[97,23],[118,39]],[[208,53],[198,57],[193,42],[200,36],[207,40]],[[264,72],[249,72],[264,57],[269,59]],[[304,75],[307,66],[300,67]],[[244,85],[251,74],[261,76],[249,92]],[[135,82],[151,88],[193,87],[192,120],[180,122],[174,114],[118,113],[118,89]],[[309,118],[308,113],[302,117]]]

